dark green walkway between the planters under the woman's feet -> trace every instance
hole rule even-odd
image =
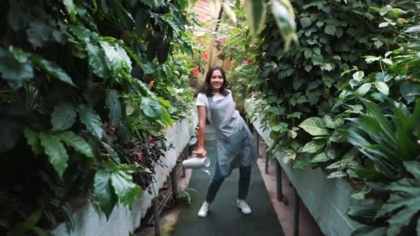
[[[213,148],[209,148],[209,145],[207,152],[211,158],[210,170],[213,174],[216,152]],[[238,172],[234,170],[231,176],[225,179],[215,201],[211,204],[210,214],[207,218],[200,219],[197,213],[204,201],[211,175],[194,170],[189,182],[189,188],[196,190],[189,192],[193,203],[182,208],[172,235],[284,235],[257,165],[253,166],[247,198],[253,212],[251,215],[242,215],[236,208]]]

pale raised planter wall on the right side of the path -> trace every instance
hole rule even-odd
[[[245,110],[248,114],[252,112],[252,125],[265,144],[271,146],[274,141],[269,137],[271,130],[262,124],[263,115],[253,112],[251,100],[245,104]],[[283,160],[276,160],[325,235],[351,235],[363,226],[345,215],[348,206],[360,204],[350,197],[353,193],[350,184],[343,179],[327,179],[327,173],[320,168],[296,170]]]

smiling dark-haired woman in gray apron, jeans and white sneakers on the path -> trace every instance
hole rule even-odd
[[[239,190],[236,206],[243,214],[250,214],[247,198],[251,166],[257,159],[253,137],[245,121],[240,117],[231,91],[227,90],[225,72],[212,66],[207,72],[206,81],[197,97],[198,135],[197,149],[193,152],[204,157],[204,133],[208,120],[216,130],[216,171],[207,190],[206,201],[198,211],[198,217],[207,217],[209,205],[216,197],[225,177],[233,168],[239,167]]]

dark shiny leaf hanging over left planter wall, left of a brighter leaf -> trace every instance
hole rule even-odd
[[[111,186],[111,172],[105,170],[98,170],[95,173],[93,181],[93,188],[95,195],[99,201],[99,206],[106,215],[106,219],[111,215],[117,199],[113,187]]]

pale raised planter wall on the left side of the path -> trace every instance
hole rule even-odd
[[[156,181],[152,186],[156,195],[158,195],[164,181],[169,177],[169,173],[175,166],[182,150],[188,145],[189,138],[193,135],[197,122],[197,114],[193,112],[191,117],[177,121],[166,130],[166,139],[169,144],[172,144],[173,148],[167,150],[164,157],[162,157],[166,166],[155,168]],[[149,188],[152,188],[152,186]],[[140,227],[141,219],[146,214],[146,210],[151,207],[155,193],[152,190],[152,194],[149,194],[147,190],[144,190],[142,198],[133,202],[133,210],[128,210],[121,204],[117,204],[108,221],[104,214],[98,215],[93,205],[89,202],[86,206],[73,213],[75,220],[73,232],[68,232],[66,226],[61,224],[52,233],[53,235],[75,236],[129,235],[129,233],[133,233],[136,228]]]

